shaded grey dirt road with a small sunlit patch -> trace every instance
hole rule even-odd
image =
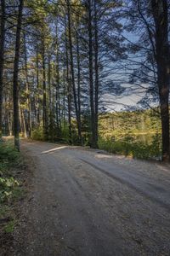
[[[22,143],[36,166],[15,255],[170,255],[168,166]]]

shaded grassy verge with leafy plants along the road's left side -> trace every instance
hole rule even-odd
[[[23,160],[11,141],[0,143],[0,247],[3,252],[17,224],[15,206],[25,191],[20,179]]]

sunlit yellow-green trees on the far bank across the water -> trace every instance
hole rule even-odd
[[[127,135],[161,133],[159,115],[153,110],[124,111],[105,113],[99,116],[99,135],[108,138],[122,139]]]

